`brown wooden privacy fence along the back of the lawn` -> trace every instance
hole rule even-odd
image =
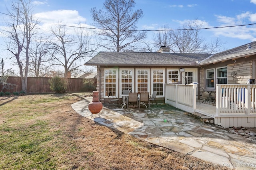
[[[51,77],[28,77],[28,85],[27,85],[27,93],[52,93],[50,90],[50,83],[48,80]],[[78,78],[68,78],[68,88],[67,92],[81,92],[86,91],[84,87],[85,79]],[[94,81],[96,86],[96,79],[88,79],[89,81]],[[4,89],[3,92],[20,92],[21,88],[21,79],[20,77],[8,77],[7,83],[14,84],[13,89]],[[0,85],[0,89],[2,89],[2,85]]]

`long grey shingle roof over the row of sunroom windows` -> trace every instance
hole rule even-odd
[[[199,61],[210,55],[207,53],[99,52],[84,65],[198,66]]]

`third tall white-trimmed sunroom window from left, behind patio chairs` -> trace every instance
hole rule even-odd
[[[136,69],[136,92],[143,93],[149,92],[149,70]]]

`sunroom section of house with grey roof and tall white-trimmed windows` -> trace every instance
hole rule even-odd
[[[166,49],[166,48],[165,48]],[[169,48],[168,48],[169,49]],[[131,92],[158,91],[157,99],[164,101],[165,83],[198,82],[198,61],[211,54],[180,54],[164,52],[99,52],[85,65],[96,65],[97,90],[100,101],[110,95],[121,97]]]

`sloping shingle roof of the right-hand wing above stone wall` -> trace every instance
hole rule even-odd
[[[251,48],[247,49],[247,45],[250,44]],[[256,41],[251,42],[245,45],[241,45],[239,47],[235,47],[232,49],[228,49],[226,51],[222,51],[220,53],[216,53],[211,55],[210,57],[204,59],[203,61],[200,61],[200,65],[206,65],[211,63],[217,63],[220,61],[227,61],[229,59],[237,59],[240,57],[247,57],[250,55],[256,54]]]

